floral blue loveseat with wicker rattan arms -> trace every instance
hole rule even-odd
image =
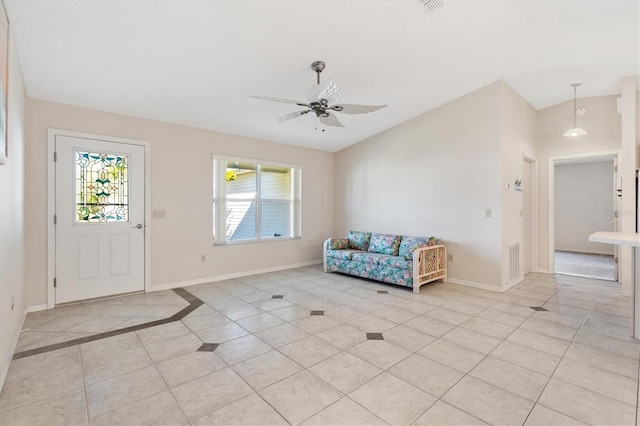
[[[435,238],[351,231],[329,238],[322,247],[324,271],[413,287],[447,282],[447,250]]]

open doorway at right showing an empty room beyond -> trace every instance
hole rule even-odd
[[[589,241],[617,231],[617,153],[550,159],[550,266],[555,274],[618,280],[617,247]]]

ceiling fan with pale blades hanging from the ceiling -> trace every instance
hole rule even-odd
[[[317,82],[316,85],[320,87],[320,73],[325,68],[325,63],[322,61],[315,61],[311,64],[311,69],[316,73]],[[308,103],[300,101],[292,101],[290,99],[272,98],[265,96],[251,96],[256,99],[264,99],[266,101],[281,102],[285,104],[294,104],[306,108],[303,111],[291,112],[285,114],[278,119],[283,122],[291,120],[293,118],[302,117],[310,112],[313,112],[317,119],[331,127],[344,127],[333,112],[341,112],[343,114],[367,114],[370,112],[378,111],[386,107],[386,105],[357,105],[357,104],[337,104],[340,100],[340,89],[334,83],[332,79],[329,79],[329,84],[323,90],[317,90],[316,94],[311,96]],[[324,130],[323,130],[324,131]]]

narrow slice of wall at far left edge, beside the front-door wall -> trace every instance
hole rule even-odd
[[[27,306],[25,269],[25,90],[15,44],[9,47],[9,161],[0,166],[0,390]],[[13,309],[11,301],[13,299]]]

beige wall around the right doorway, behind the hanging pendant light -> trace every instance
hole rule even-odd
[[[616,151],[620,145],[620,115],[617,112],[618,96],[600,96],[578,100],[587,114],[578,117],[578,126],[587,135],[577,139],[562,135],[573,123],[573,100],[538,111],[538,183],[539,183],[539,246],[538,264],[541,272],[549,272],[549,157]]]

